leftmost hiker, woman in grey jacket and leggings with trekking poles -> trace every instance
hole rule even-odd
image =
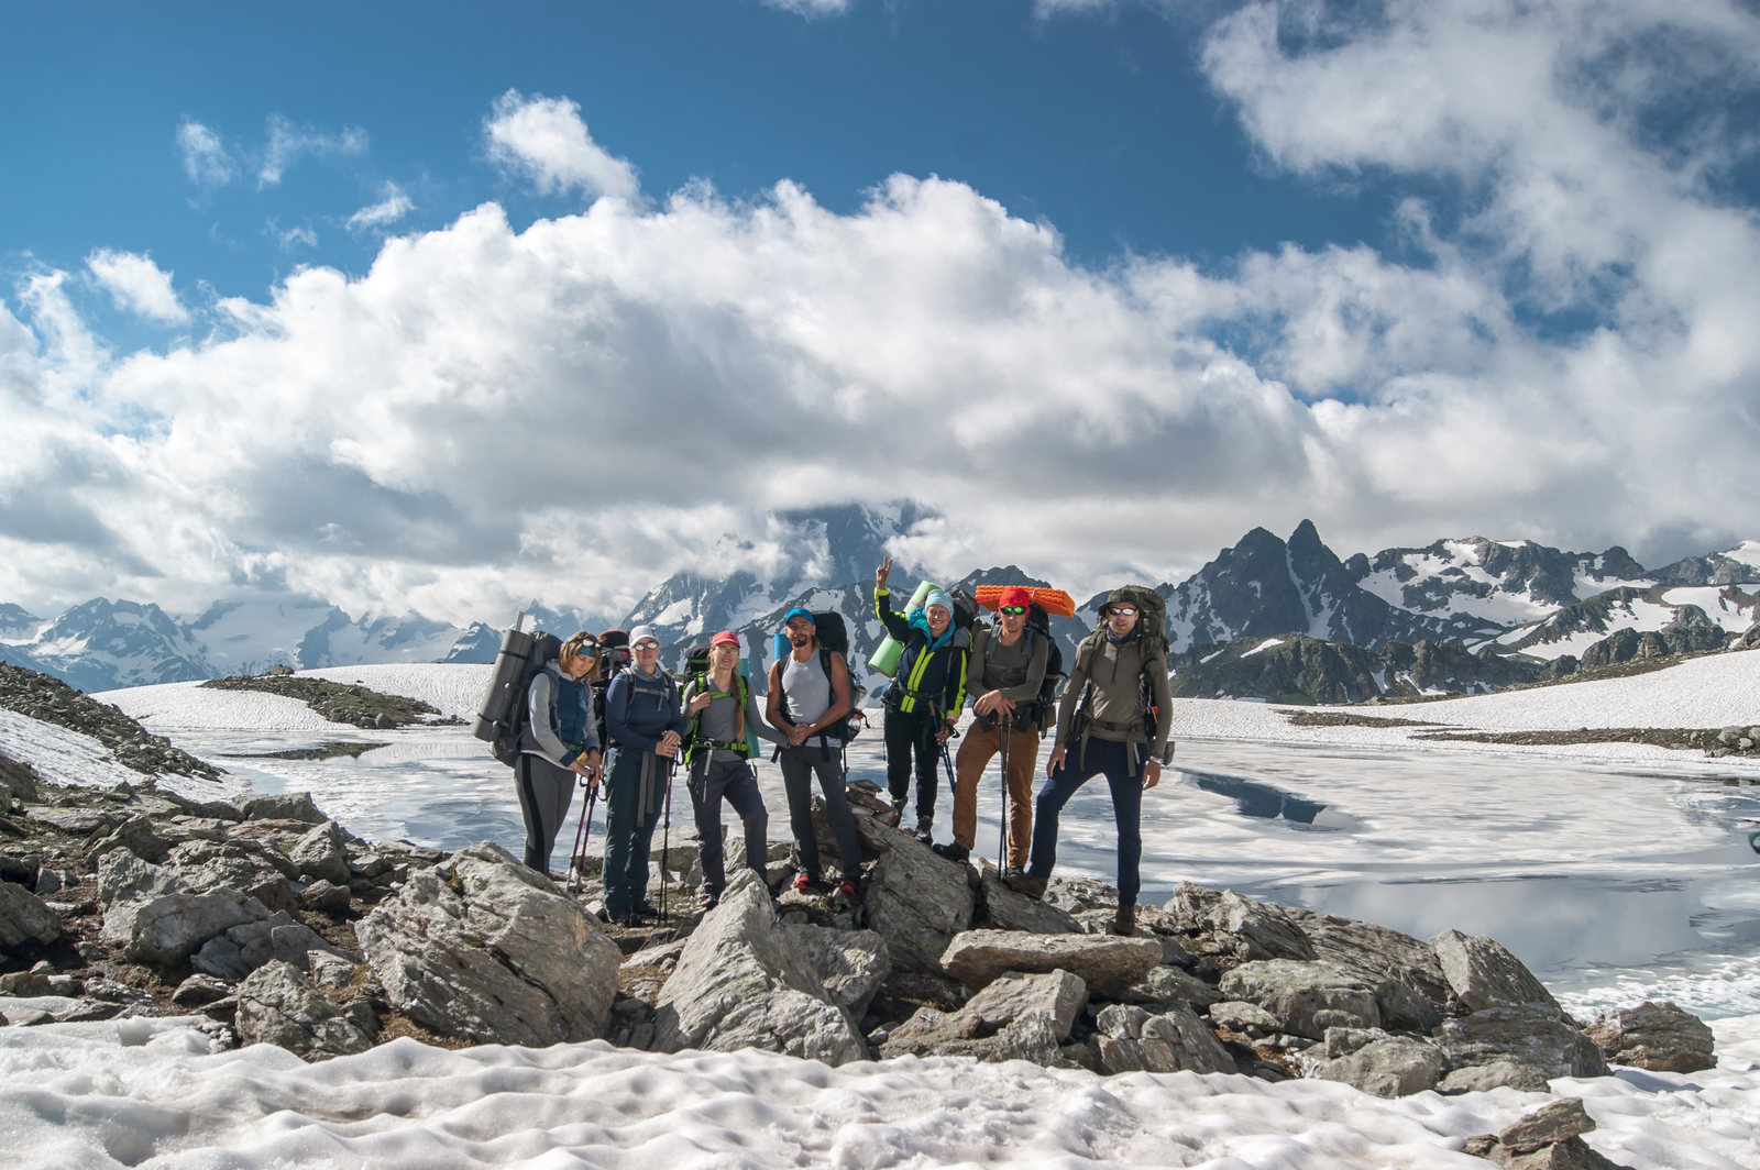
[[[549,876],[549,855],[574,801],[574,778],[598,783],[598,727],[593,720],[593,679],[598,640],[576,633],[561,654],[532,676],[526,725],[519,732],[514,788],[526,822],[526,866]]]

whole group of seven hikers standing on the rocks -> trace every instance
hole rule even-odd
[[[1081,642],[1061,700],[1047,672],[1061,662],[1033,591],[1003,588],[996,621],[956,621],[954,596],[928,588],[920,603],[892,609],[892,561],[875,570],[875,616],[903,649],[884,693],[887,790],[905,825],[910,781],[917,781],[915,836],[936,853],[964,862],[975,848],[977,790],[1001,757],[1007,792],[1001,880],[1042,897],[1058,860],[1058,816],[1075,792],[1105,776],[1118,823],[1119,908],[1114,931],[1135,929],[1140,888],[1142,793],[1162,776],[1169,711],[1165,637],[1144,623],[1144,589],[1123,588],[1100,605],[1098,628]],[[1153,600],[1153,598],[1151,598]],[[1035,625],[1030,614],[1038,618]],[[1153,614],[1155,618],[1160,612]],[[708,654],[692,656],[683,681],[660,667],[653,626],[602,646],[581,632],[560,644],[524,691],[514,764],[526,827],[526,866],[549,873],[577,779],[597,795],[604,783],[604,917],[641,925],[660,911],[648,901],[648,859],[665,813],[674,767],[685,764],[702,866],[702,906],[727,885],[722,804],[744,830],[746,860],[767,866],[769,813],[753,772],[755,741],[774,744],[788,801],[797,890],[824,888],[813,832],[813,781],[838,846],[836,897],[861,899],[861,839],[845,792],[847,727],[855,686],[843,654],[820,642],[808,609],[783,616],[787,653],[769,669],[762,714],[741,672],[739,635],[716,633]],[[611,635],[605,635],[611,640]],[[620,639],[621,640],[621,639]],[[1054,677],[1051,679],[1054,683]],[[954,760],[952,841],[935,845],[936,767],[972,702],[973,723]],[[1040,739],[1051,735],[1045,783],[1033,795]],[[609,769],[605,765],[609,758]]]

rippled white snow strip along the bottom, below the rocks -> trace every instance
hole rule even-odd
[[[299,1166],[1485,1166],[1457,1152],[1551,1100],[1397,1101],[1322,1080],[903,1057],[827,1068],[604,1042],[463,1052],[396,1040],[306,1066],[209,1052],[180,1020],[0,1029],[0,1131],[33,1170]],[[1760,1017],[1718,1026],[1720,1068],[1559,1079],[1588,1142],[1649,1168],[1760,1166]]]

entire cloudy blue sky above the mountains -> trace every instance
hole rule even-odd
[[[37,612],[621,612],[799,559],[778,508],[905,496],[922,567],[1077,591],[1301,519],[1760,535],[1751,4],[0,30],[0,600]]]

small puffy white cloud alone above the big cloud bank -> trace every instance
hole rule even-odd
[[[584,195],[637,199],[635,167],[607,153],[586,123],[581,107],[565,97],[524,97],[509,90],[495,100],[484,120],[489,158],[505,171],[526,176],[540,195],[579,188]]]

